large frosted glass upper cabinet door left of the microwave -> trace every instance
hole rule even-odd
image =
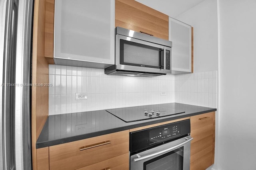
[[[115,0],[55,0],[55,64],[114,64],[114,14]]]

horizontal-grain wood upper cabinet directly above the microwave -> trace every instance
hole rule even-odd
[[[168,16],[135,0],[116,0],[115,26],[168,40]]]

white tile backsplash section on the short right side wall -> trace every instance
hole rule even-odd
[[[175,102],[217,108],[217,76],[216,70],[175,75]]]

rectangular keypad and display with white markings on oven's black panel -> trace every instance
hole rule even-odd
[[[164,141],[180,135],[180,123],[152,129],[149,131],[150,144]]]

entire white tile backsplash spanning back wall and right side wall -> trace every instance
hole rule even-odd
[[[170,102],[216,108],[217,76],[217,71],[110,76],[104,69],[50,64],[49,115]],[[75,100],[77,92],[87,92],[87,100]]]

